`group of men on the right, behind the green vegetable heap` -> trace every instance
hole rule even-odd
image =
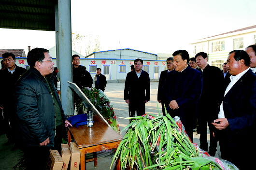
[[[222,159],[240,170],[251,169],[246,162],[254,160],[250,153],[256,151],[256,44],[245,51],[231,51],[222,71],[208,64],[204,52],[190,58],[187,51],[178,50],[172,56],[166,60],[167,70],[161,72],[158,84],[157,100],[162,104],[163,115],[179,116],[191,141],[193,129],[198,127],[199,147],[210,156],[215,155],[219,142]],[[142,70],[143,61],[138,58],[134,65],[135,70],[127,74],[124,90],[129,116],[135,112],[144,114],[145,103],[150,99],[149,76]],[[243,156],[246,151],[249,157]]]

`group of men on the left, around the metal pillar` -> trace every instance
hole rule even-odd
[[[28,71],[15,64],[14,54],[4,53],[2,58],[1,130],[6,133],[7,144],[15,143],[12,150],[20,148],[24,152],[26,170],[45,170],[49,150],[60,153],[62,139],[67,138],[66,127],[72,126],[57,94],[58,68],[53,67],[49,50],[44,48],[28,52]],[[92,77],[79,64],[80,57],[72,56],[73,82],[80,88],[91,88]],[[98,70],[100,79],[95,76],[95,87],[104,91],[106,78]]]

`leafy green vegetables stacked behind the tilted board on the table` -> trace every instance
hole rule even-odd
[[[98,90],[95,87],[89,88],[84,87],[82,88],[83,93],[85,96],[92,102],[94,107],[102,114],[102,116],[107,120],[109,125],[117,132],[120,133],[119,125],[116,121],[116,116],[114,113],[113,105],[111,104],[110,100],[106,96],[106,94],[102,90]],[[86,112],[88,108],[83,103],[82,99],[77,100],[77,109],[83,110]]]

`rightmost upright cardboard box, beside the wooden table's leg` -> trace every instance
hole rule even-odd
[[[80,150],[77,148],[75,142],[70,142],[70,152],[71,152],[70,170],[79,170]]]

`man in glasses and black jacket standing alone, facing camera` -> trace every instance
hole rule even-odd
[[[135,71],[128,72],[125,81],[124,99],[129,105],[129,116],[145,114],[145,103],[150,99],[149,74],[142,70],[143,60],[135,59]]]

